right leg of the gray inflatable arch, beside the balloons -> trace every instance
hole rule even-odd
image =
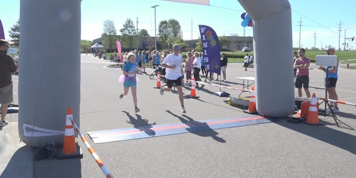
[[[257,112],[288,116],[295,106],[289,1],[238,1],[253,21]]]

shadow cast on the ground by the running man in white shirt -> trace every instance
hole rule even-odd
[[[226,141],[223,138],[218,137],[217,135],[219,134],[215,130],[211,129],[208,124],[205,122],[199,122],[193,120],[191,117],[187,115],[182,115],[183,117],[187,118],[184,119],[183,117],[180,117],[178,115],[173,114],[171,111],[166,110],[169,114],[173,115],[174,117],[177,117],[183,124],[187,125],[189,128],[185,128],[187,131],[190,133],[194,133],[195,135],[201,136],[201,137],[211,137],[215,141],[218,141],[220,143],[226,143]],[[204,131],[198,131],[198,130],[203,130]]]

